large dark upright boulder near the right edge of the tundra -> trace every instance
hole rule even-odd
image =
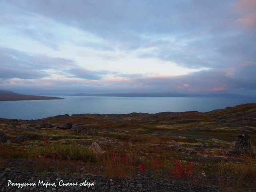
[[[250,136],[242,134],[236,138],[236,152],[247,156],[252,155],[252,143]]]

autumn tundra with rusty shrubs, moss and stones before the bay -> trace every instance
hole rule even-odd
[[[2,191],[255,191],[256,160],[235,151],[256,143],[256,104],[200,113],[79,114],[0,118]],[[96,142],[103,150],[94,153]],[[8,180],[56,186],[8,186]],[[58,182],[78,182],[59,186]],[[79,186],[84,181],[94,186]]]

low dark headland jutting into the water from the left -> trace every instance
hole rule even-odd
[[[52,99],[64,99],[64,98],[36,96],[36,95],[22,95],[12,91],[0,90],[0,101],[52,100]]]

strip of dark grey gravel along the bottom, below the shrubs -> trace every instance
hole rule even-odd
[[[36,186],[8,186],[8,181],[12,183],[35,183]],[[56,186],[42,186],[42,183],[52,184]],[[78,186],[60,186],[59,182],[65,184],[76,183]],[[86,181],[86,182],[85,182]],[[94,186],[80,186],[80,183],[93,183]],[[34,171],[22,171],[12,168],[6,168],[0,171],[0,188],[1,192],[22,192],[22,191],[37,191],[37,192],[69,192],[69,191],[93,191],[93,192],[218,192],[221,191],[217,187],[212,186],[195,186],[189,182],[174,181],[167,179],[151,178],[137,176],[130,180],[110,178],[98,176],[95,174],[68,174],[56,172],[46,172],[39,174]]]

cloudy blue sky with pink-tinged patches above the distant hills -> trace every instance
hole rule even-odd
[[[256,0],[0,0],[0,90],[256,96]]]

